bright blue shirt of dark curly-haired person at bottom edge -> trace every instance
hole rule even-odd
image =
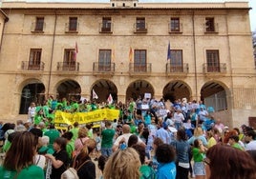
[[[160,179],[175,179],[176,166],[174,162],[167,164],[160,163],[157,171],[157,178]]]

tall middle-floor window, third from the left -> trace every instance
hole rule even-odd
[[[111,71],[111,50],[99,50],[98,70]]]

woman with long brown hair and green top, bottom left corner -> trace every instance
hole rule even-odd
[[[44,179],[44,171],[33,165],[38,138],[30,131],[18,132],[0,167],[3,179]]]

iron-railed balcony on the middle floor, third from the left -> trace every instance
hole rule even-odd
[[[94,67],[93,67],[93,74],[94,75],[114,75],[115,73],[115,63],[98,63],[94,62]]]

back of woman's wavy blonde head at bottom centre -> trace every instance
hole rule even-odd
[[[141,166],[135,149],[118,149],[108,159],[103,171],[104,179],[139,179]]]

